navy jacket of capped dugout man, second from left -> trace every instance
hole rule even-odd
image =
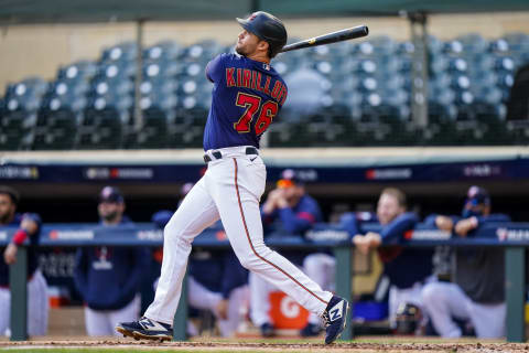
[[[123,217],[121,225],[126,224],[131,222]],[[75,286],[90,309],[125,308],[138,293],[150,258],[144,247],[79,248],[75,259]]]

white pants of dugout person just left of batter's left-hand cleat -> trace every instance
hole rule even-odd
[[[88,335],[121,335],[116,332],[116,325],[120,322],[138,320],[140,309],[140,296],[136,296],[125,308],[117,310],[94,310],[85,307],[86,333]]]

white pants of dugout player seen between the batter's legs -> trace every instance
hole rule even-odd
[[[187,285],[190,306],[213,312],[223,338],[234,335],[242,318],[241,309],[244,309],[245,303],[248,303],[248,286],[240,286],[231,290],[228,298],[227,318],[220,319],[217,306],[223,300],[223,296],[210,291],[191,276],[187,278]]]

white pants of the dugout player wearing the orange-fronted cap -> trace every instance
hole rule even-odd
[[[306,276],[312,278],[320,287],[330,291],[334,289],[335,268],[336,260],[327,254],[311,254],[303,260],[303,271]],[[278,288],[256,274],[249,275],[249,287],[251,322],[257,327],[270,323],[270,292],[278,290]],[[321,324],[322,320],[314,312],[311,312],[309,322]]]

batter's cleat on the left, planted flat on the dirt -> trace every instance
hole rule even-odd
[[[116,331],[123,336],[130,336],[134,340],[171,341],[173,339],[173,329],[170,324],[158,322],[148,318],[141,318],[139,321],[121,322],[116,325]]]

